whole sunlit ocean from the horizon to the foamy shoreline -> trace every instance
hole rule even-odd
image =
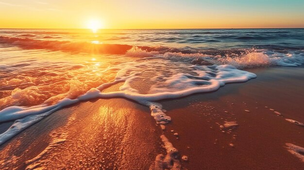
[[[168,124],[159,100],[246,82],[247,68],[303,64],[304,29],[0,29],[0,123],[15,121],[0,144],[93,98],[130,99]]]

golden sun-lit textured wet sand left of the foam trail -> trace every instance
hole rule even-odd
[[[124,99],[93,100],[81,105],[79,109],[60,110],[49,120],[36,124],[43,124],[41,128],[32,126],[24,137],[13,139],[1,150],[0,167],[5,166],[7,170],[12,166],[19,169],[149,169],[159,152],[155,149],[159,141],[153,130],[154,122],[149,121],[148,115],[139,116],[146,114],[143,106],[134,106]],[[58,118],[62,121],[57,121]],[[144,128],[139,130],[139,127]],[[45,133],[37,133],[41,130]],[[33,138],[34,144],[24,144]],[[15,156],[16,153],[23,156]],[[137,154],[141,156],[135,160]]]

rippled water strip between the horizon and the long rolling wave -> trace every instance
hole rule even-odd
[[[88,30],[0,30],[0,35],[35,40],[187,49],[304,48],[304,29],[100,30],[94,34]]]

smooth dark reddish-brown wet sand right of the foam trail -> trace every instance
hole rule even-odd
[[[165,133],[181,155],[189,156],[184,164],[187,169],[303,169],[304,162],[287,152],[285,144],[304,147],[304,127],[285,119],[304,122],[304,68],[249,71],[257,78],[228,84],[214,93],[179,99],[174,105],[172,101],[161,102],[173,120],[168,131],[174,130],[180,137],[175,139],[171,132]],[[223,133],[217,123],[224,121],[239,125],[232,133]]]

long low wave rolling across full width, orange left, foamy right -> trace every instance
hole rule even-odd
[[[243,37],[245,39],[250,37]],[[268,49],[229,49],[202,50],[171,48],[166,46],[131,46],[123,44],[95,44],[89,42],[70,42],[36,40],[0,36],[0,44],[9,44],[30,49],[51,49],[70,52],[89,52],[105,54],[126,54],[133,57],[164,57],[169,60],[191,62],[192,64],[229,64],[237,68],[257,66],[300,66],[304,64],[304,52],[275,52]],[[270,46],[270,45],[269,45]]]

